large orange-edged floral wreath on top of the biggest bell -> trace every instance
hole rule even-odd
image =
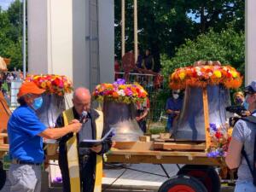
[[[242,77],[234,67],[221,66],[219,61],[197,61],[194,66],[177,68],[169,80],[174,90],[183,90],[187,85],[206,87],[208,84],[237,89],[242,83]]]

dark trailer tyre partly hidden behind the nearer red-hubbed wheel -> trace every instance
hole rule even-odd
[[[183,166],[177,175],[189,175],[197,178],[207,188],[208,192],[219,192],[221,188],[220,178],[213,166]]]

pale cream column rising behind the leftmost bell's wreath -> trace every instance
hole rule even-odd
[[[28,0],[28,72],[73,79],[73,1]]]

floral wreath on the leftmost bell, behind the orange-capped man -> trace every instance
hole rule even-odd
[[[66,93],[73,91],[72,81],[64,75],[28,75],[25,81],[33,81],[39,88],[46,90],[48,94],[64,96]]]

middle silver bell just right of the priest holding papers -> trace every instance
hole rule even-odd
[[[143,136],[137,124],[136,108],[134,103],[104,101],[103,102],[104,125],[114,128],[113,141],[134,142]]]

